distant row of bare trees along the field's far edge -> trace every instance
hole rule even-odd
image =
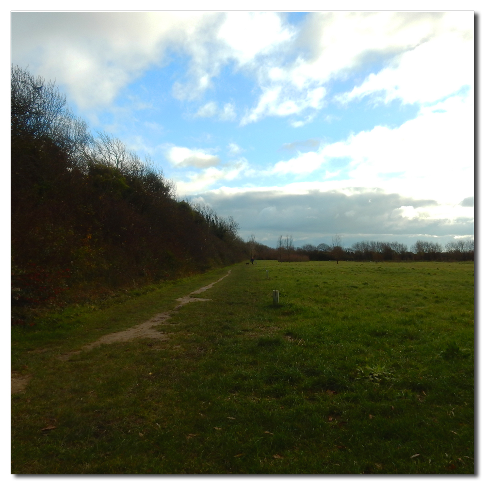
[[[337,240],[339,242],[339,240]],[[448,242],[444,247],[436,242],[417,241],[408,250],[400,242],[361,241],[349,248],[340,245],[304,244],[294,247],[291,236],[280,236],[278,247],[271,248],[254,243],[253,254],[257,259],[278,261],[473,261],[475,245],[473,239]]]

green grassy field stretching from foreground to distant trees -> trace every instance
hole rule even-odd
[[[13,328],[12,473],[474,473],[473,263],[239,264],[59,360],[227,269]]]

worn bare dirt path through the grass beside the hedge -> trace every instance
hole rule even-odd
[[[103,335],[100,339],[97,339],[94,342],[88,343],[81,347],[81,350],[76,350],[74,352],[69,352],[67,354],[63,354],[59,356],[61,360],[69,360],[69,358],[76,354],[81,354],[81,352],[88,351],[94,349],[95,347],[99,347],[103,343],[113,343],[113,342],[128,342],[129,340],[134,339],[158,339],[158,340],[168,340],[168,334],[161,332],[159,330],[155,330],[153,328],[156,325],[160,325],[160,323],[166,322],[177,310],[188,303],[194,302],[205,302],[210,301],[210,298],[196,298],[192,295],[200,294],[209,288],[212,288],[216,283],[222,281],[226,276],[229,276],[231,270],[227,272],[222,278],[219,278],[217,281],[210,283],[207,286],[203,286],[198,290],[192,291],[186,296],[182,296],[181,298],[177,298],[179,302],[176,307],[174,307],[171,311],[166,311],[163,313],[158,313],[154,315],[150,320],[147,320],[144,323],[140,323],[132,328],[128,328],[127,330],[122,330],[121,332],[114,332],[112,334]],[[11,372],[10,374],[10,390],[11,394],[16,392],[22,392],[25,390],[29,379],[31,378],[30,375],[19,374],[18,372]]]

